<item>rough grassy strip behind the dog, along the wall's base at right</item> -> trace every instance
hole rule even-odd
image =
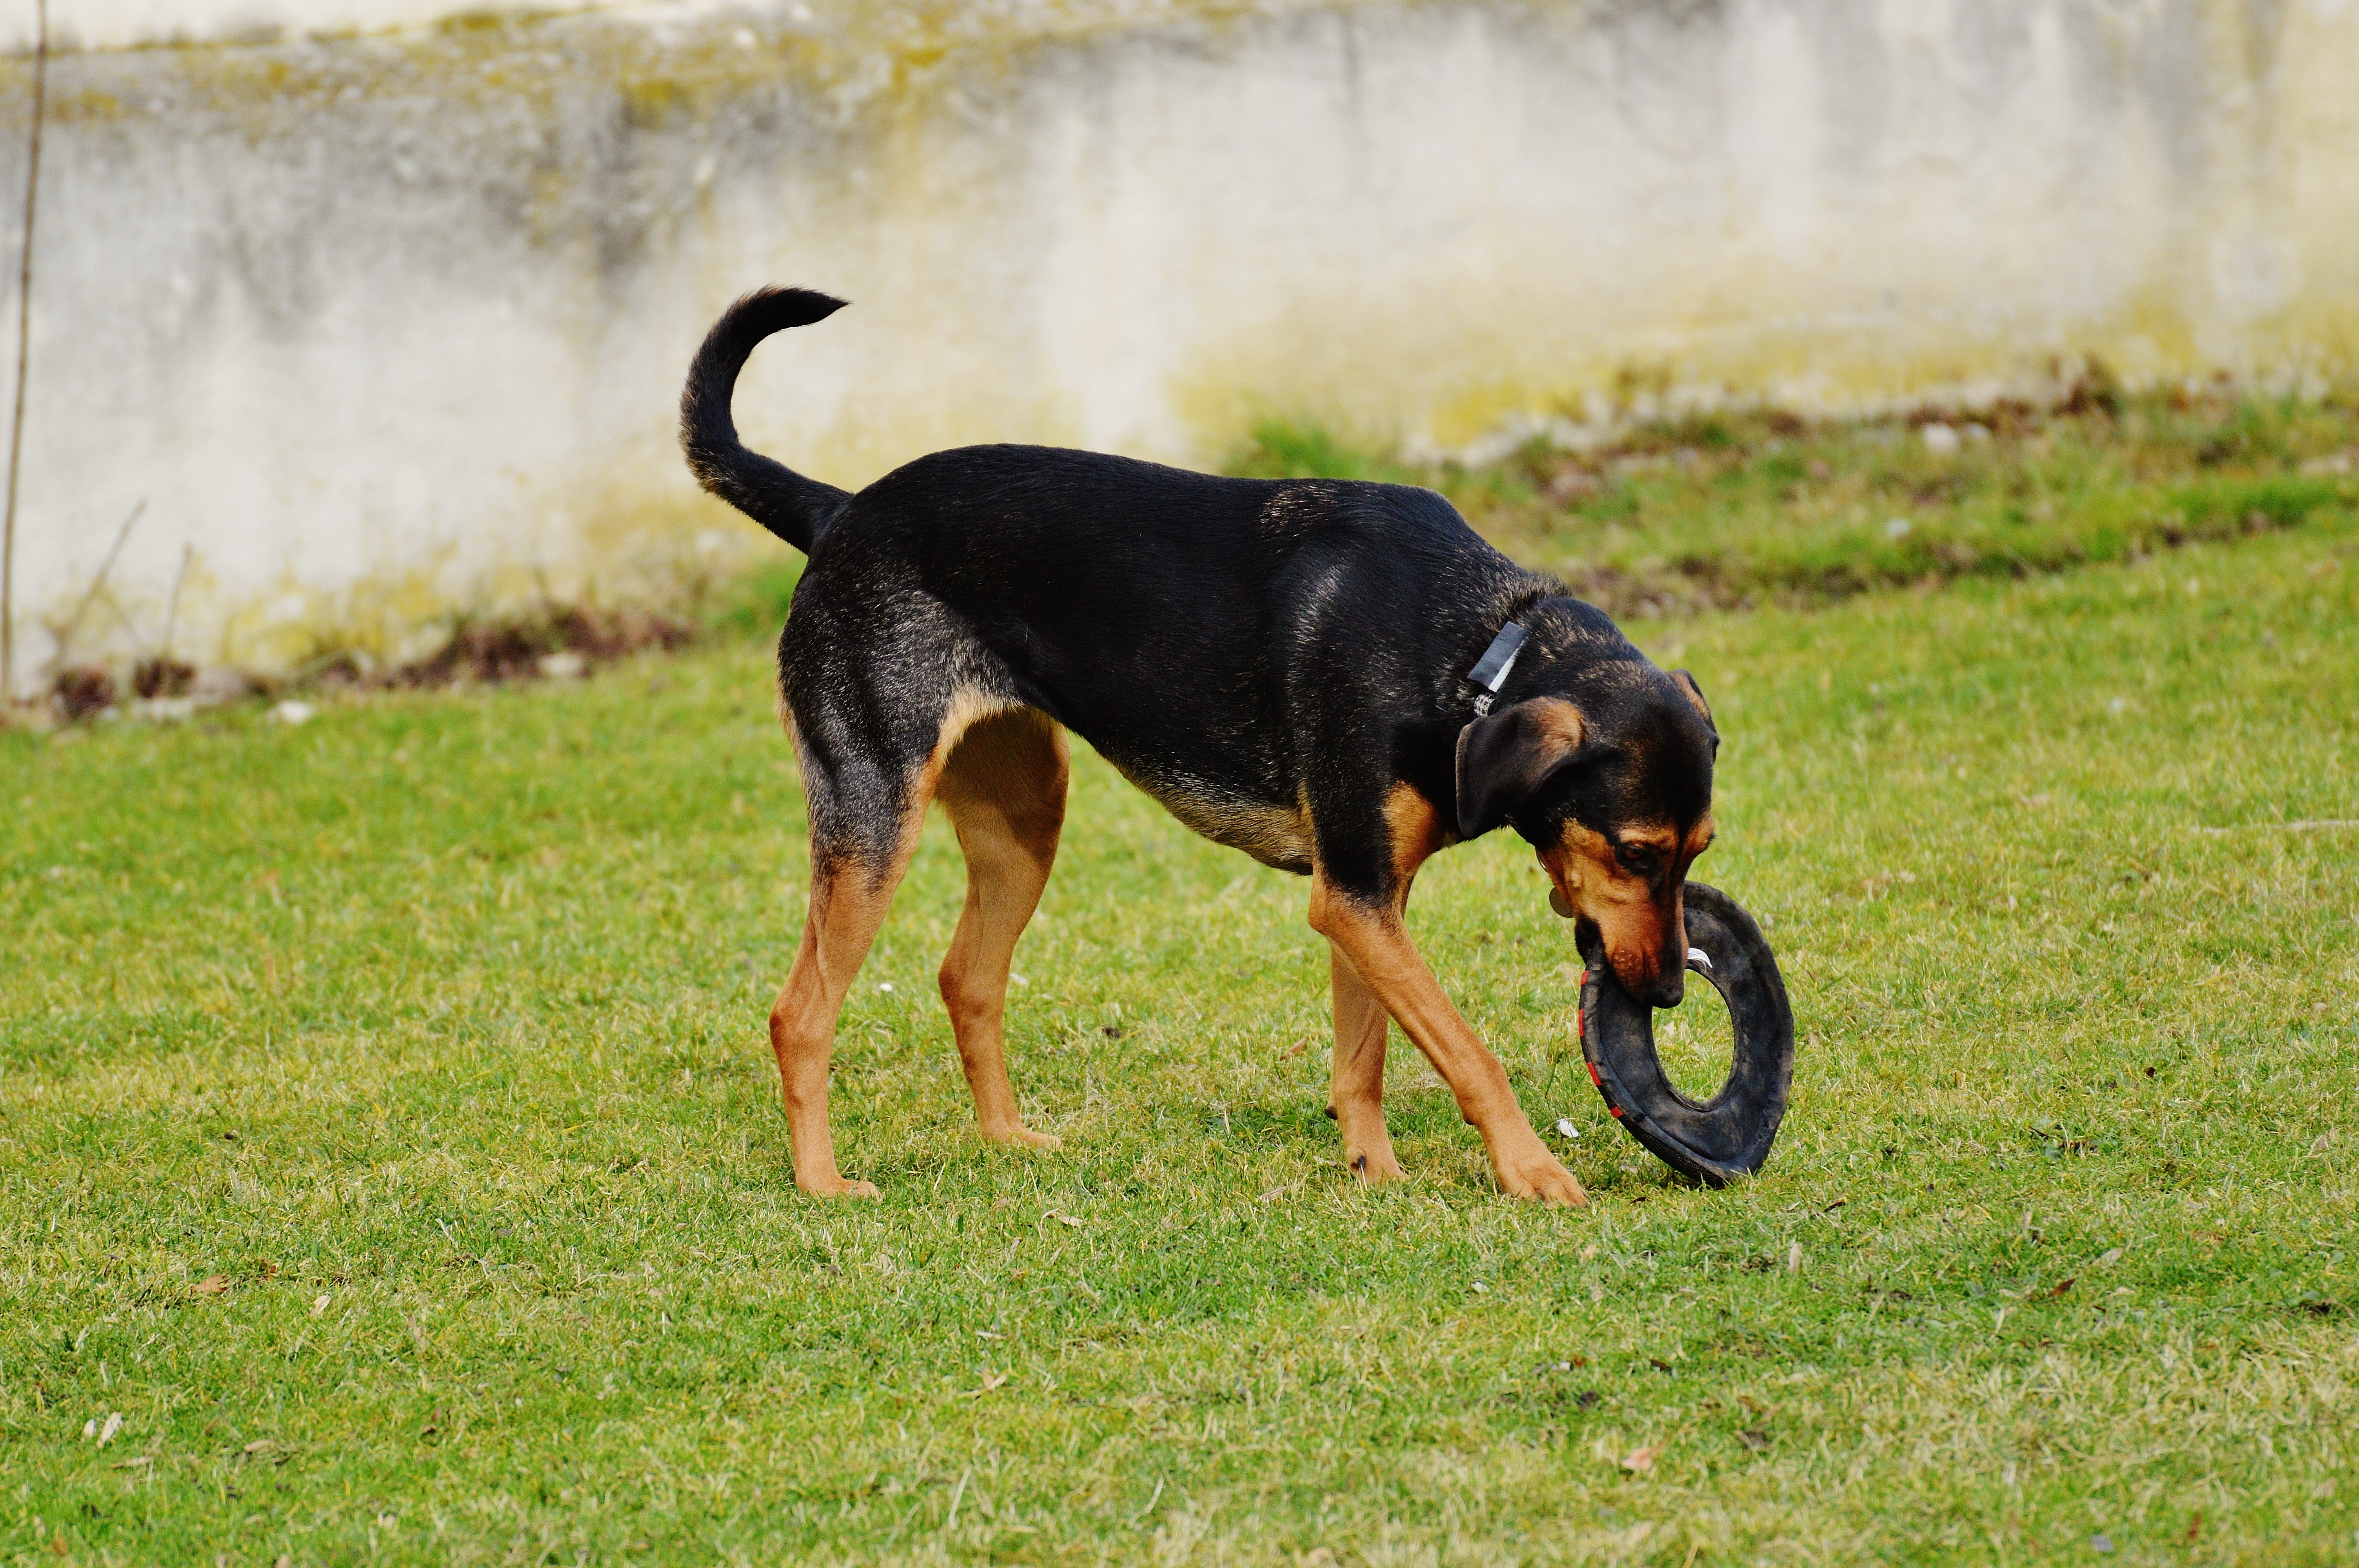
[[[1479,467],[1413,465],[1269,420],[1229,467],[1432,486],[1514,559],[1606,608],[1656,615],[2135,561],[2359,505],[2352,417],[2333,403],[2095,396],[1986,417],[1696,415]],[[1925,424],[1965,434],[1937,453]]]

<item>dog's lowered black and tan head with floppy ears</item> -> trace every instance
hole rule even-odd
[[[1536,696],[1458,733],[1458,832],[1522,832],[1550,905],[1595,927],[1623,990],[1673,1007],[1687,990],[1680,894],[1713,842],[1713,710],[1694,677],[1635,648],[1538,674]]]

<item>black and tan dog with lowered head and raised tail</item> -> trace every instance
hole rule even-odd
[[[738,299],[679,408],[696,479],[811,556],[778,639],[811,811],[811,915],[769,1016],[795,1181],[875,1193],[835,1167],[828,1056],[929,802],[967,856],[941,1000],[977,1120],[1052,1144],[1017,1115],[1000,1016],[1057,856],[1071,729],[1196,832],[1309,875],[1333,948],[1328,1111],[1354,1172],[1401,1174],[1389,1014],[1500,1188],[1585,1203],[1411,946],[1408,884],[1437,849],[1510,823],[1621,983],[1677,1002],[1680,889],[1713,837],[1717,736],[1696,684],[1430,490],[1038,446],[934,453],[859,495],[804,479],[738,441],[729,396],[757,342],[840,304]]]

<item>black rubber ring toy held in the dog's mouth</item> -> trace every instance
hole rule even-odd
[[[1614,979],[1595,936],[1583,943],[1581,1054],[1606,1111],[1673,1170],[1727,1186],[1769,1160],[1793,1087],[1793,1007],[1776,955],[1734,898],[1687,884],[1687,967],[1729,1004],[1736,1059],[1706,1103],[1680,1094],[1654,1052],[1654,1009]],[[1701,960],[1698,960],[1701,953]]]

